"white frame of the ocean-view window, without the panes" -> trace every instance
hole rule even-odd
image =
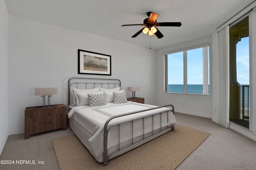
[[[186,49],[180,49],[176,51],[171,51],[168,53],[163,53],[164,55],[164,92],[165,93],[181,93],[181,94],[199,94],[199,95],[209,95],[209,44],[198,45],[195,47],[189,47]],[[203,48],[203,93],[188,93],[187,92],[187,51],[192,49]],[[209,50],[208,50],[209,49]],[[183,51],[183,93],[182,92],[168,92],[168,55],[173,53],[179,53]],[[210,83],[209,83],[210,84]]]

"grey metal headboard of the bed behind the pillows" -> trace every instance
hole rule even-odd
[[[84,77],[71,77],[68,80],[68,106],[70,105],[70,87],[80,89],[90,89],[101,86],[102,88],[115,88],[120,86],[121,81],[118,79],[109,78],[84,78]]]

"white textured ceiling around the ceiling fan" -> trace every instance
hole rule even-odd
[[[9,14],[124,41],[152,49],[207,37],[254,0],[5,0]],[[181,22],[181,27],[158,27],[164,35],[141,33],[147,12],[158,22]]]

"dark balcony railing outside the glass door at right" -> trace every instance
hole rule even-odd
[[[242,85],[242,120],[249,120],[250,116],[250,86]]]

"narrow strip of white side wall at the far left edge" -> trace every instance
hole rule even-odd
[[[0,0],[0,153],[8,137],[8,18],[4,0]]]

